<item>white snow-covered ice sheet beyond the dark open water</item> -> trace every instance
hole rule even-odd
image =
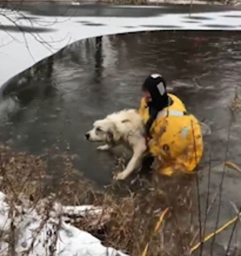
[[[123,6],[122,6],[123,8]],[[158,7],[158,8],[165,8]],[[163,14],[153,17],[50,17],[31,16],[1,10],[0,15],[0,85],[12,76],[33,66],[36,62],[56,53],[66,45],[89,37],[151,30],[241,30],[241,11],[192,14]],[[26,15],[31,20],[23,19]],[[20,29],[15,28],[15,24]],[[20,19],[18,19],[20,18]],[[33,32],[23,32],[23,29]],[[41,29],[34,32],[34,29]]]

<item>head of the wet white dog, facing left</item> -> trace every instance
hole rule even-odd
[[[112,121],[102,119],[94,122],[93,129],[86,133],[86,139],[89,141],[115,143],[120,139],[120,135]]]

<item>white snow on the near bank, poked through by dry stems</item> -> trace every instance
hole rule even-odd
[[[56,256],[127,256],[114,248],[102,246],[100,240],[90,233],[67,224],[63,215],[78,213],[100,214],[99,207],[64,207],[54,203],[46,214],[46,205],[34,209],[26,204],[12,207],[5,202],[6,195],[0,192],[0,255],[9,255],[9,247],[16,255],[56,255]],[[10,218],[12,215],[12,218]],[[7,242],[14,226],[14,245]],[[6,239],[4,239],[6,238]]]

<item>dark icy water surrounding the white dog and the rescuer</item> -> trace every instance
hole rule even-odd
[[[239,32],[161,31],[82,40],[8,82],[0,102],[0,139],[31,154],[42,154],[52,145],[61,151],[69,147],[78,156],[78,170],[100,186],[109,184],[114,155],[97,152],[84,133],[96,119],[137,108],[144,78],[159,72],[168,90],[212,130],[205,137],[200,165],[204,211],[210,152],[211,195],[219,187],[225,159],[241,166],[241,116],[229,109],[235,88],[241,86],[240,70]],[[236,214],[230,202],[241,205],[240,182],[240,173],[225,171],[220,224]],[[212,211],[209,231],[215,214]],[[230,232],[217,237],[214,255],[224,255]]]

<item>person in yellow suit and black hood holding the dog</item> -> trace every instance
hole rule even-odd
[[[187,112],[182,101],[167,94],[160,74],[147,77],[142,85],[140,115],[146,128],[147,145],[154,157],[154,168],[168,176],[192,173],[200,162],[203,141],[200,124]]]

